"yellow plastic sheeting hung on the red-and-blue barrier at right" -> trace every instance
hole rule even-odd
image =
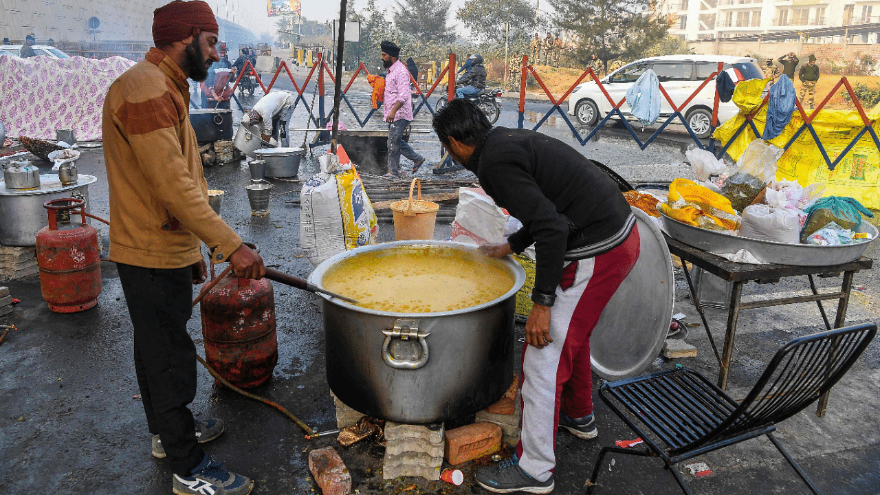
[[[740,83],[737,88],[747,82]],[[754,94],[752,91],[745,91],[745,89],[740,93],[742,100],[737,103],[737,106],[757,108],[761,102],[760,94]],[[736,100],[736,98],[737,92],[734,92],[734,99]],[[872,108],[867,112],[867,115],[870,120],[875,121],[872,127],[874,132],[880,136],[880,120],[876,120],[880,117],[880,106]],[[744,122],[744,114],[740,113],[715,129],[713,137],[726,145]],[[764,132],[766,106],[752,117],[752,122],[759,133]],[[785,146],[802,125],[803,118],[800,112],[795,110],[791,121],[782,130],[782,133],[767,143],[779,147]],[[855,110],[822,110],[813,119],[813,129],[816,130],[819,141],[822,142],[825,152],[828,153],[828,158],[832,161],[840,156],[840,153],[847,148],[847,145],[862,131],[863,127],[862,118]],[[754,132],[747,127],[739,134],[736,141],[730,144],[728,154],[733,159],[739,160],[745,148],[755,139],[757,137]],[[840,160],[840,163],[834,167],[834,170],[828,170],[828,164],[822,157],[822,152],[819,151],[810,130],[804,129],[776,162],[776,179],[797,180],[804,187],[810,184],[825,184],[826,196],[853,197],[859,203],[876,210],[880,209],[880,167],[877,166],[878,163],[880,163],[880,151],[877,150],[870,133],[865,132],[853,148],[847,152],[847,155]]]

